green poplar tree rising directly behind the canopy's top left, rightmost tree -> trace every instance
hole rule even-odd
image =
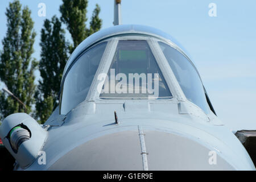
[[[99,18],[100,6],[96,5],[90,20],[90,27],[86,28],[86,13],[88,0],[63,0],[60,6],[61,21],[67,25],[73,39],[71,52],[89,35],[101,29],[102,20]]]

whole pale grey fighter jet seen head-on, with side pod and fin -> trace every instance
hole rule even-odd
[[[26,113],[3,121],[15,170],[255,170],[184,48],[158,29],[117,25],[86,38],[59,101],[43,126]]]

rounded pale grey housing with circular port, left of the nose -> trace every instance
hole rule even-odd
[[[30,115],[16,113],[3,120],[0,137],[19,166],[27,168],[42,150],[47,139],[47,131]]]

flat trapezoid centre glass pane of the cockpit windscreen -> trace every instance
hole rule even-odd
[[[119,40],[100,98],[171,98],[146,40]]]

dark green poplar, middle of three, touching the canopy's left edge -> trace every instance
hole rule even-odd
[[[36,91],[36,116],[41,123],[44,123],[52,113],[68,59],[69,43],[65,41],[65,31],[56,16],[44,21],[40,46],[42,50],[39,71],[42,80],[39,80]]]

